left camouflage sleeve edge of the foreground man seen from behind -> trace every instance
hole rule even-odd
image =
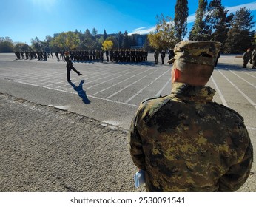
[[[129,129],[129,152],[132,156],[133,163],[138,169],[145,170],[145,155],[142,148],[141,136],[136,129],[137,115],[132,119],[132,123]]]

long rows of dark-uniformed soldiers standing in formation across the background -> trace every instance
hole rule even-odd
[[[65,61],[64,52],[54,52],[57,61]],[[132,62],[138,63],[147,61],[148,52],[142,49],[119,49],[119,50],[70,50],[70,58],[73,61],[101,61],[104,56],[109,62]],[[47,58],[53,58],[53,52],[46,51],[26,51],[15,52],[17,59],[36,59],[38,61],[47,61]]]

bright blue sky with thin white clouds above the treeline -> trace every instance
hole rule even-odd
[[[208,0],[208,3],[210,0]],[[174,18],[176,0],[8,0],[1,1],[0,37],[30,44],[32,38],[44,41],[54,33],[95,27],[107,34],[127,30],[146,33],[156,24],[155,16]],[[235,13],[240,7],[250,9],[256,21],[256,1],[222,0]],[[198,0],[189,0],[188,29],[195,20]],[[256,25],[255,25],[256,26]]]

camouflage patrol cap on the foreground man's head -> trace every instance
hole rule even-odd
[[[179,60],[192,64],[214,66],[220,46],[221,43],[218,41],[181,41],[175,45],[175,56],[168,63]]]

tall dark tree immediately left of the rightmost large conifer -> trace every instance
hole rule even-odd
[[[226,42],[227,33],[234,14],[228,15],[228,10],[224,10],[221,0],[212,0],[207,7],[206,31],[208,41]]]

